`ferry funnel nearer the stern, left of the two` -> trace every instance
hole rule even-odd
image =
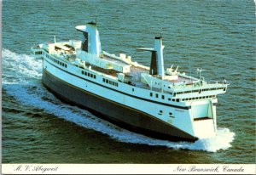
[[[78,25],[76,26],[76,29],[81,31],[84,35],[81,49],[90,54],[101,54],[102,46],[100,34],[96,28],[96,23],[90,22],[88,25]]]

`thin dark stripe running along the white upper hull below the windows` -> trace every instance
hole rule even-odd
[[[46,59],[44,59],[44,60],[49,63],[48,60],[46,60]],[[53,64],[49,63],[49,65],[53,65]],[[101,87],[103,87],[103,88],[108,88],[108,87],[106,87],[106,86],[103,86],[102,84],[99,84],[99,83],[97,83],[97,82],[90,81],[90,80],[88,80],[88,79],[86,79],[86,78],[84,78],[84,77],[80,77],[80,76],[77,76],[77,75],[75,75],[75,74],[73,74],[73,73],[70,73],[69,71],[63,70],[63,69],[57,67],[56,65],[53,65],[53,66],[55,66],[57,69],[59,69],[59,70],[61,70],[61,71],[65,71],[67,74],[70,74],[70,75],[72,75],[72,76],[76,76],[76,77],[78,77],[78,78],[80,78],[80,79],[83,79],[84,81],[94,83],[94,84],[96,84],[96,85],[98,85],[98,86],[101,86]],[[153,101],[153,100],[150,100],[150,99],[143,99],[143,98],[137,97],[137,96],[135,96],[135,95],[131,95],[131,94],[129,94],[129,93],[123,93],[123,92],[118,91],[118,90],[115,90],[115,89],[113,89],[113,88],[108,88],[108,89],[110,89],[110,90],[112,90],[112,91],[115,91],[115,92],[117,92],[117,93],[125,94],[125,95],[130,96],[130,97],[135,98],[135,99],[142,99],[142,100],[144,100],[144,101],[148,101],[148,102],[151,102],[151,103],[154,103],[154,104],[166,105],[166,106],[169,106],[169,107],[179,108],[179,109],[183,109],[183,110],[189,110],[189,109],[191,108],[191,106],[183,107],[183,106],[178,106],[178,105],[173,105],[173,104],[165,104],[165,103],[161,103],[161,102],[156,102],[156,101]]]

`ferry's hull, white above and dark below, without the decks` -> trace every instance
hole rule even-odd
[[[208,132],[203,133],[214,136],[213,118],[193,119],[192,110],[196,104],[191,108],[170,104],[167,99],[154,101],[149,98],[149,90],[121,82],[118,82],[119,87],[102,85],[103,76],[94,79],[78,74],[80,71],[76,66],[65,68],[44,58],[43,84],[61,99],[93,110],[97,115],[137,133],[154,138],[195,141],[196,135],[201,136],[201,130],[196,128],[207,128]],[[209,100],[201,104],[210,105]],[[215,106],[212,105],[212,109],[215,116]]]

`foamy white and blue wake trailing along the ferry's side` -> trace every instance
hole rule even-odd
[[[199,139],[195,143],[170,142],[131,133],[114,126],[108,121],[93,116],[89,111],[81,110],[76,106],[63,104],[59,99],[56,99],[41,84],[41,59],[34,59],[32,56],[26,54],[15,54],[4,48],[2,50],[2,56],[3,90],[19,101],[20,104],[44,110],[47,114],[71,121],[81,127],[108,134],[109,137],[120,142],[165,146],[177,150],[216,152],[218,150],[229,149],[235,138],[235,133],[230,132],[228,128],[218,128],[216,137]]]

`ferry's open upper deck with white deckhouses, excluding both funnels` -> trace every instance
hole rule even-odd
[[[162,93],[199,93],[204,89],[211,88],[226,88],[223,83],[207,83],[195,77],[186,76],[183,73],[176,71],[166,71],[165,76],[150,75],[149,67],[133,62],[131,57],[126,57],[124,54],[115,56],[102,51],[99,57],[85,53],[79,49],[79,41],[55,42],[46,43],[40,47],[35,47],[35,50],[44,48],[49,54],[55,58],[65,60],[70,65],[76,65],[82,69],[96,71],[101,75],[113,77],[114,80],[125,82],[137,88],[144,88],[155,92]],[[79,54],[80,53],[80,54]],[[82,54],[81,54],[82,53]],[[124,71],[125,68],[125,71]],[[123,78],[120,79],[120,75]],[[195,92],[196,90],[196,92]],[[184,93],[181,93],[184,92]]]

